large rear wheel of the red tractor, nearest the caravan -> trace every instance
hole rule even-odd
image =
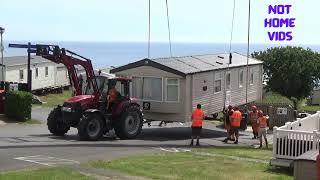
[[[137,106],[126,108],[116,122],[114,130],[120,139],[132,139],[141,133],[143,117]]]

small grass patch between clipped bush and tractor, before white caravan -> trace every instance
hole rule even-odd
[[[41,106],[44,107],[56,107],[58,104],[63,104],[65,100],[72,96],[71,90],[65,90],[61,94],[47,94],[45,96],[40,96],[42,102]]]

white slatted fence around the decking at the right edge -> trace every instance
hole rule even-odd
[[[295,159],[301,154],[319,149],[320,111],[303,119],[273,128],[273,157]]]

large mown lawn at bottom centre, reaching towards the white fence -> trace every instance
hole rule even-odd
[[[270,158],[271,151],[246,148],[199,149],[215,154]],[[134,176],[151,179],[293,179],[287,173],[272,171],[268,164],[237,161],[216,156],[201,156],[192,152],[159,153],[122,158],[114,161],[95,161],[96,168],[112,169]]]

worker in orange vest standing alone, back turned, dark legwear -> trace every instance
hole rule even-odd
[[[204,112],[201,109],[201,104],[197,104],[197,109],[192,111],[191,120],[192,120],[192,135],[190,146],[193,146],[193,139],[197,138],[197,146],[200,146],[199,139],[202,130],[202,122],[204,120]]]

